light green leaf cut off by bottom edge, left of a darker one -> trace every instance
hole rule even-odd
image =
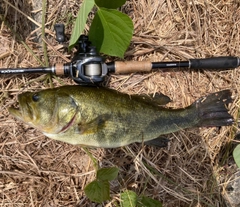
[[[131,190],[126,190],[120,194],[120,206],[121,207],[136,207],[137,194]]]

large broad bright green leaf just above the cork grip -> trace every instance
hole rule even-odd
[[[89,39],[98,51],[123,58],[132,34],[133,23],[126,14],[100,8],[93,19]]]

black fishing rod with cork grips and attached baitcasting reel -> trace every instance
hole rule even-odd
[[[64,42],[64,25],[55,25],[56,39]],[[95,84],[104,81],[108,73],[127,74],[133,72],[150,72],[152,69],[190,68],[207,70],[227,70],[240,66],[240,58],[233,56],[190,59],[175,62],[150,61],[115,61],[105,63],[88,36],[81,35],[77,52],[70,63],[57,63],[50,67],[37,68],[1,68],[1,74],[50,73],[71,77],[78,84]]]

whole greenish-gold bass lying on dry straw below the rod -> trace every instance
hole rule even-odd
[[[101,148],[165,143],[164,135],[179,130],[234,123],[227,109],[233,101],[230,90],[201,97],[184,108],[166,107],[170,101],[161,93],[152,98],[71,85],[19,94],[19,107],[10,107],[9,113],[54,140]]]

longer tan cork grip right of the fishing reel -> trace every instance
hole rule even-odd
[[[149,61],[116,61],[115,73],[134,73],[134,72],[149,72],[152,69],[152,63]]]

